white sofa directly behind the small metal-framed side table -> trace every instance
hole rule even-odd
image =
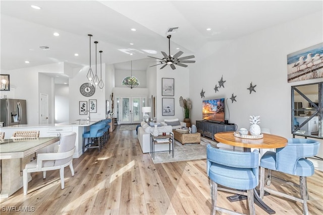
[[[149,153],[150,152],[150,133],[152,133],[154,127],[149,126],[146,122],[141,122],[141,126],[138,127],[138,140],[140,143],[140,147],[142,153]],[[159,126],[157,127],[159,134],[166,134],[173,133],[173,128],[171,125],[166,126]],[[171,146],[172,147],[172,146]],[[169,151],[169,144],[160,144],[155,145],[155,152],[162,152],[162,151]]]

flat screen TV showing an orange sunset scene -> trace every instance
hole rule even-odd
[[[224,122],[225,99],[209,99],[202,102],[203,120]]]

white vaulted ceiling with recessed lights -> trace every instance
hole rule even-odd
[[[160,51],[168,52],[169,27],[179,27],[172,34],[171,53],[180,48],[182,56],[195,54],[198,60],[196,53],[208,42],[238,38],[321,10],[322,1],[1,1],[1,70],[62,61],[88,65],[88,34],[93,35],[91,64],[97,40],[102,62],[129,69],[126,61],[161,58]],[[145,70],[149,60],[133,64],[133,69]]]

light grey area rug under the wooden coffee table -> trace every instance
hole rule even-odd
[[[174,141],[174,158],[173,154],[167,152],[156,152],[155,159],[152,159],[154,164],[168,163],[175,161],[189,161],[196,159],[206,158],[206,145],[211,144],[216,147],[217,142],[211,139],[201,137],[200,144],[184,144],[182,145],[179,141]]]

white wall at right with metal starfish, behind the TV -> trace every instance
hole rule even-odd
[[[301,28],[301,26],[306,26]],[[291,86],[323,81],[322,78],[303,82],[287,82],[287,54],[316,45],[323,38],[322,12],[302,17],[288,23],[259,31],[245,37],[209,43],[196,55],[214,52],[190,66],[189,95],[193,103],[191,119],[202,119],[202,100],[231,98],[227,100],[226,118],[238,128],[249,129],[250,115],[260,115],[260,127],[291,137]],[[205,50],[205,51],[204,51]],[[223,75],[225,88],[215,93],[213,88]],[[250,83],[256,85],[250,94]],[[205,98],[199,93],[205,91]]]

